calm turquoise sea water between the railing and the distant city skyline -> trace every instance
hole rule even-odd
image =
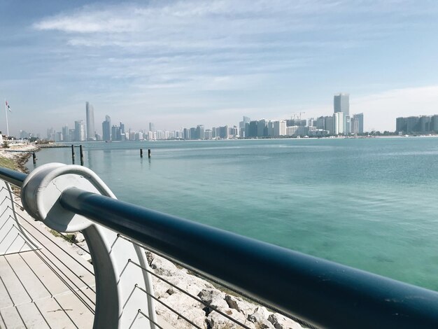
[[[437,138],[83,146],[120,200],[438,290]]]

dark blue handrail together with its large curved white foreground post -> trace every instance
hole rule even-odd
[[[144,248],[309,327],[438,328],[435,291],[122,202],[84,167],[0,168],[0,179],[22,188],[34,219],[83,232],[96,277],[94,328],[127,328],[139,314],[161,328]]]

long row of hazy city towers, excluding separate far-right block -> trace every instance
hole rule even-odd
[[[318,116],[318,118],[302,118],[302,112],[290,119],[251,120],[243,116],[237,125],[219,125],[206,129],[204,125],[196,127],[180,127],[178,130],[155,130],[155,123],[148,123],[148,130],[125,130],[125,124],[111,125],[111,117],[106,115],[102,122],[101,134],[94,127],[94,107],[85,102],[85,116],[87,123],[76,120],[74,129],[68,125],[57,131],[50,127],[47,130],[47,139],[53,141],[125,141],[125,140],[162,140],[162,139],[229,139],[229,138],[276,138],[276,137],[327,137],[334,135],[363,134],[363,113],[354,113],[350,116],[349,94],[339,93],[333,97],[332,116]],[[397,119],[398,120],[398,119]],[[397,122],[397,127],[399,126]],[[397,128],[398,129],[398,128]],[[29,133],[20,130],[20,138],[27,138]],[[41,134],[39,136],[41,138]]]

